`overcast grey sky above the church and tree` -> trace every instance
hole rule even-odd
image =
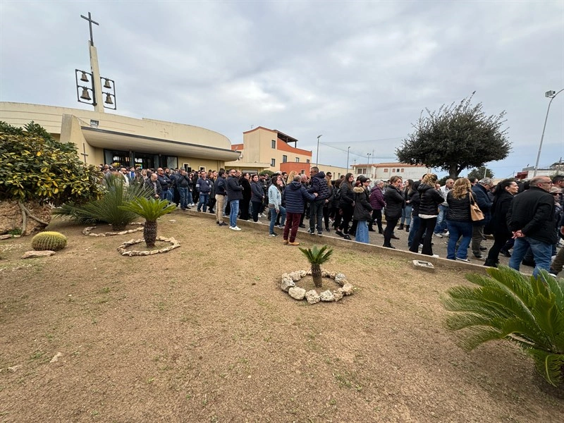
[[[82,109],[75,68],[100,73],[116,113],[215,130],[258,125],[319,162],[393,161],[422,109],[474,95],[507,111],[512,176],[537,158],[548,90],[564,88],[564,1],[0,0],[0,100]],[[114,113],[114,112],[112,112]],[[539,165],[564,160],[564,92]],[[465,171],[462,172],[465,175]]]

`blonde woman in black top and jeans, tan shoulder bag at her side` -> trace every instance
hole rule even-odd
[[[472,184],[468,178],[455,180],[453,188],[446,195],[448,210],[446,212],[446,227],[448,228],[448,245],[446,258],[470,262],[468,246],[472,240],[472,217],[470,216],[470,191]],[[456,248],[458,239],[460,245]]]

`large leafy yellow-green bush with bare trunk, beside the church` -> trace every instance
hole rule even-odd
[[[30,211],[35,204],[80,204],[96,198],[101,173],[82,163],[71,143],[56,141],[42,126],[28,123],[16,128],[0,121],[0,202],[17,202],[22,232],[27,218],[42,225]]]

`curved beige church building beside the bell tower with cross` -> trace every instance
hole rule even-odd
[[[239,157],[225,135],[181,123],[11,102],[0,102],[0,121],[34,121],[56,140],[72,142],[80,158],[94,165],[216,170]]]

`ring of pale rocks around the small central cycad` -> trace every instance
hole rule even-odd
[[[290,297],[294,300],[301,301],[305,299],[308,304],[316,304],[317,302],[332,302],[341,300],[345,295],[353,295],[355,287],[348,283],[347,278],[342,273],[337,273],[336,271],[326,271],[321,270],[322,278],[331,278],[335,281],[341,288],[336,290],[324,290],[322,293],[317,293],[316,290],[312,289],[306,292],[304,288],[295,286],[295,282],[299,281],[301,278],[307,275],[311,275],[312,271],[308,270],[296,270],[293,272],[282,274],[281,290],[288,293]]]

